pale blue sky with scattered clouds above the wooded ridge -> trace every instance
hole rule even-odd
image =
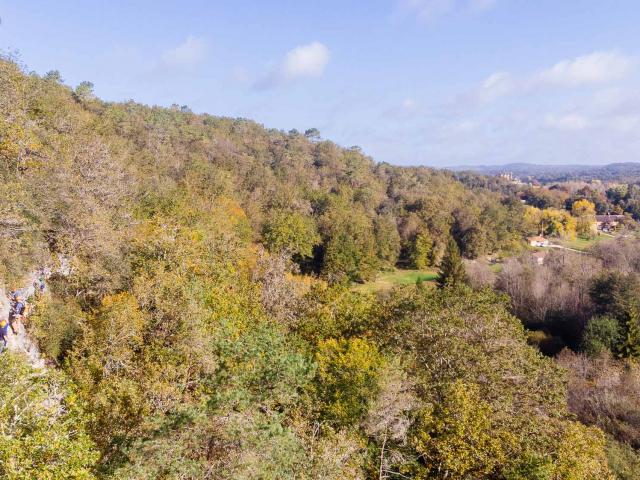
[[[398,165],[640,161],[637,0],[0,0],[104,100],[320,130]]]

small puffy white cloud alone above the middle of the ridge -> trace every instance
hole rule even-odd
[[[300,45],[287,52],[282,61],[256,83],[256,87],[271,88],[304,78],[321,77],[330,58],[329,49],[320,42]]]

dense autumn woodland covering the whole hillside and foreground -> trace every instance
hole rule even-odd
[[[2,478],[638,478],[634,240],[538,269],[508,189],[10,59],[0,87],[0,278],[53,272],[48,368],[0,356]],[[438,285],[351,288],[398,265]]]

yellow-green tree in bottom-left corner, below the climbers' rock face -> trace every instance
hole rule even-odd
[[[93,479],[98,452],[69,382],[18,354],[5,352],[0,362],[0,477]]]

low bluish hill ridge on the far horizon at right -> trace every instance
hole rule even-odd
[[[508,163],[505,165],[463,165],[449,167],[454,171],[471,171],[484,175],[511,173],[522,179],[541,182],[564,180],[634,180],[640,178],[640,163],[611,163],[608,165],[538,165]]]

